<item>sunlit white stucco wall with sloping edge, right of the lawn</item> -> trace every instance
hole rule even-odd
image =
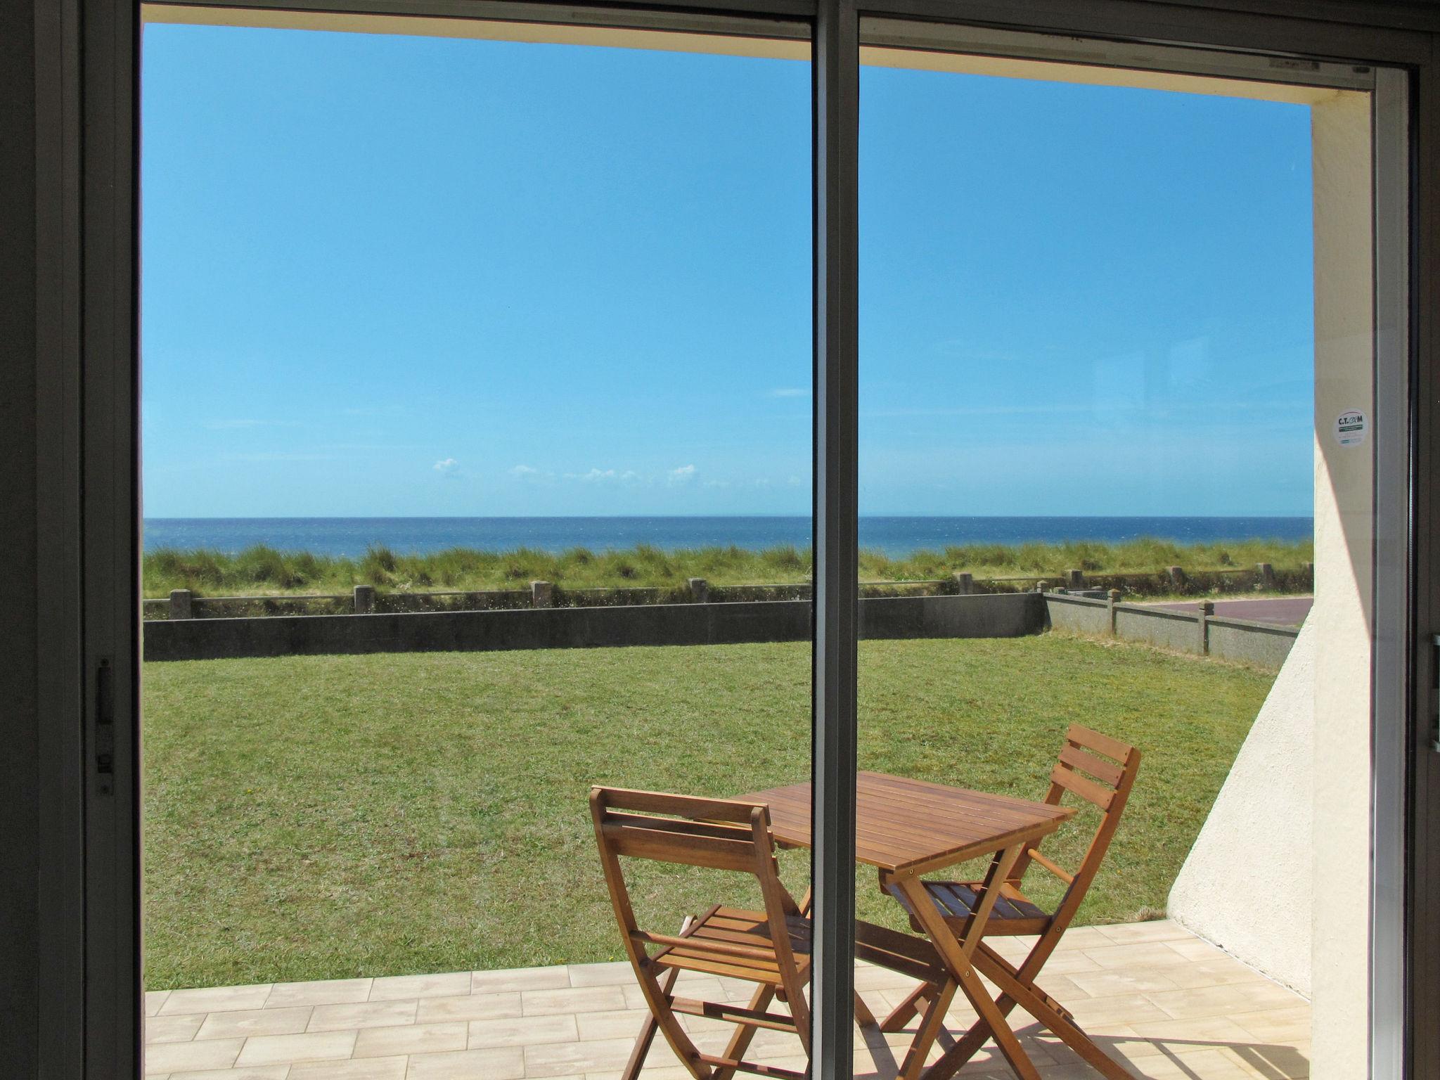
[[[1169,916],[1310,996],[1315,645],[1306,625],[1175,878]],[[1257,903],[1263,897],[1263,903]],[[1273,912],[1273,919],[1257,919]]]

